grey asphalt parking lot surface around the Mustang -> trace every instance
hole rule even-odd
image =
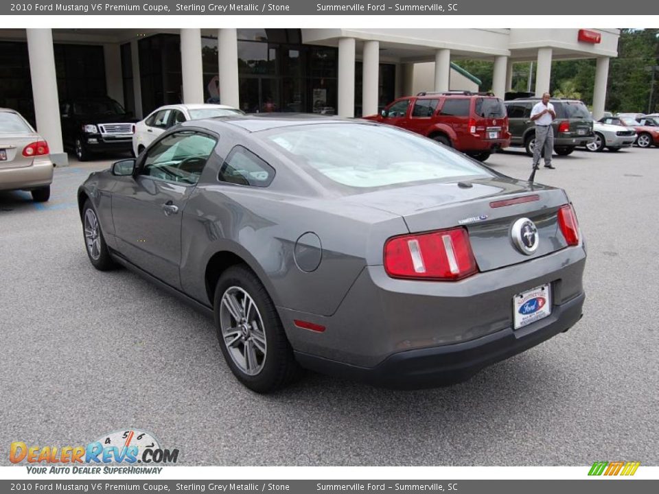
[[[56,169],[51,200],[0,193],[0,464],[8,447],[135,427],[183,464],[659,464],[659,149],[556,156],[588,242],[584,317],[450,388],[308,375],[238,384],[211,320],[127,270],[89,263],[76,190],[108,161]],[[531,158],[494,154],[526,179]]]

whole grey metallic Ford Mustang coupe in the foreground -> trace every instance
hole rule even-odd
[[[586,249],[562,189],[381,124],[186,122],[91,174],[78,204],[93,266],[214,316],[257,392],[301,368],[452,384],[581,318]]]

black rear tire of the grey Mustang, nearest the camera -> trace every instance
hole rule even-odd
[[[246,314],[241,315],[245,316],[247,327],[242,327],[240,321],[231,315],[228,305],[224,305],[225,294],[227,297],[233,294],[234,300],[238,301],[238,308],[246,311]],[[243,294],[244,303],[238,299],[240,294]],[[248,303],[244,294],[251,298],[256,312],[253,309],[244,309]],[[258,393],[269,393],[284,388],[299,375],[299,364],[293,356],[292,347],[286,338],[284,326],[281,325],[275,304],[256,274],[247,266],[232,266],[222,273],[216,285],[213,307],[220,350],[231,372],[244,386]],[[259,316],[255,317],[255,327],[248,324],[250,315]],[[227,328],[234,329],[239,335],[229,333],[224,336],[222,333],[223,320],[227,321]],[[259,326],[261,327],[259,328]],[[256,341],[255,333],[265,340],[264,353],[254,343]],[[227,344],[229,338],[233,338],[231,341],[237,341],[237,343],[235,345]],[[238,348],[241,345],[242,349]],[[232,346],[231,350],[229,346]],[[253,359],[256,362],[251,374],[243,368],[244,366],[248,368],[249,364],[239,364],[235,360],[240,360],[242,356],[244,356],[245,363],[250,360],[247,357],[248,346],[251,346]],[[257,358],[257,351],[262,354],[260,362]]]

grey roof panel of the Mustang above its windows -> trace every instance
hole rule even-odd
[[[328,115],[315,115],[313,113],[261,113],[255,115],[231,115],[226,117],[213,117],[184,122],[183,126],[200,126],[203,124],[209,129],[219,129],[222,126],[232,126],[246,132],[261,132],[273,128],[294,126],[322,125],[322,124],[364,124],[375,125],[374,122],[360,119],[344,119]]]

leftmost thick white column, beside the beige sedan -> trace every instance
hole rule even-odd
[[[53,163],[66,166],[69,164],[69,159],[62,146],[62,124],[51,30],[28,29],[27,53],[30,57],[36,130],[47,141]]]

